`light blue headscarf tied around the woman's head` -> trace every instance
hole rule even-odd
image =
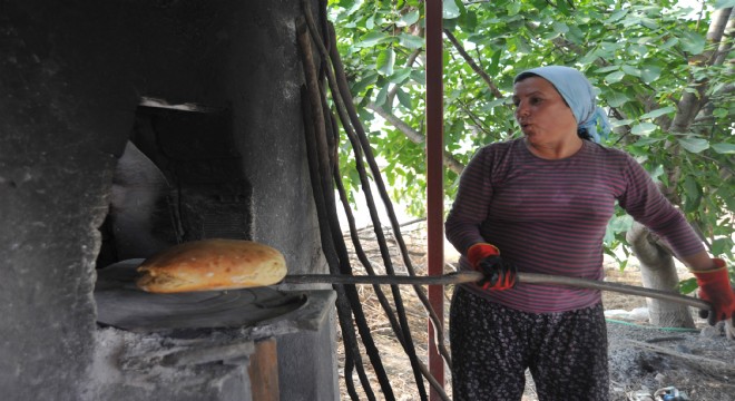
[[[574,68],[564,66],[548,66],[526,70],[518,76],[513,82],[529,75],[537,75],[553,85],[561,97],[567,101],[577,119],[577,130],[587,131],[596,143],[600,141],[600,135],[607,137],[610,131],[610,123],[605,110],[597,106],[595,89],[581,72]],[[600,133],[597,124],[600,124]]]

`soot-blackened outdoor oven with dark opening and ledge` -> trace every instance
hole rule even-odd
[[[203,238],[271,245],[292,274],[327,271],[301,14],[277,0],[2,3],[3,399],[339,398],[331,290],[197,295],[273,310],[242,325],[108,324],[125,304],[102,294],[122,267]]]

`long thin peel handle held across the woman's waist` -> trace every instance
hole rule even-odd
[[[448,285],[474,283],[482,280],[480,272],[459,272],[439,276],[406,276],[406,275],[333,275],[333,274],[297,274],[286,275],[283,283],[288,284],[399,284],[399,285]],[[708,302],[692,296],[682,295],[676,292],[644,288],[635,285],[609,283],[597,280],[577,278],[538,273],[518,273],[519,283],[527,284],[551,284],[572,286],[578,288],[592,288],[612,291],[623,294],[638,295],[663,301],[676,302],[700,310],[710,310]]]

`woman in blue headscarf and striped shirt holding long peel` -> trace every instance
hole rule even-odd
[[[602,237],[617,202],[666,239],[697,276],[715,320],[735,295],[722,260],[630,156],[602,147],[609,130],[579,71],[541,67],[516,77],[523,137],[481,148],[445,223],[463,270],[450,309],[454,400],[520,400],[525,371],[540,400],[607,400],[607,332],[599,291],[516,283],[516,271],[602,280]]]

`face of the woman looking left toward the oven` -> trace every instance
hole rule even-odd
[[[514,85],[516,120],[531,145],[562,144],[578,138],[577,119],[548,80],[531,76]]]

